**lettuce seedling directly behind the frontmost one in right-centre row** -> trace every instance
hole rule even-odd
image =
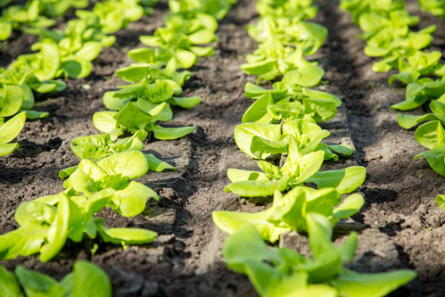
[[[334,187],[315,190],[297,186],[284,196],[276,191],[273,205],[268,210],[253,213],[219,210],[212,212],[212,218],[215,225],[228,234],[251,224],[260,232],[263,240],[273,243],[283,233],[306,232],[306,213],[323,214],[334,226],[340,219],[347,219],[357,213],[365,202],[360,194],[351,194],[341,205],[340,201],[341,195]],[[338,207],[334,209],[335,206]]]

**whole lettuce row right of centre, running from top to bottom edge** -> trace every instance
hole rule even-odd
[[[230,236],[223,248],[228,268],[249,276],[261,296],[383,296],[416,276],[412,270],[366,274],[343,267],[358,245],[357,233],[341,245],[332,242],[333,227],[364,203],[360,186],[366,169],[351,166],[320,171],[324,161],[350,155],[348,145],[328,145],[330,133],[317,123],[333,119],[342,103],[316,87],[324,70],[304,55],[315,54],[327,29],[304,21],[315,16],[310,1],[260,0],[260,20],[248,27],[259,42],[242,69],[259,81],[283,76],[265,89],[247,83],[245,95],[255,103],[235,128],[238,147],[259,159],[261,171],[229,169],[227,192],[244,197],[273,195],[267,210],[247,213],[213,211],[213,221]],[[309,187],[315,184],[317,189]],[[350,194],[342,200],[342,194]],[[340,204],[340,202],[342,203]],[[340,205],[339,205],[340,204]],[[336,207],[336,208],[334,208]],[[287,248],[271,250],[280,235],[307,233],[312,259]]]

